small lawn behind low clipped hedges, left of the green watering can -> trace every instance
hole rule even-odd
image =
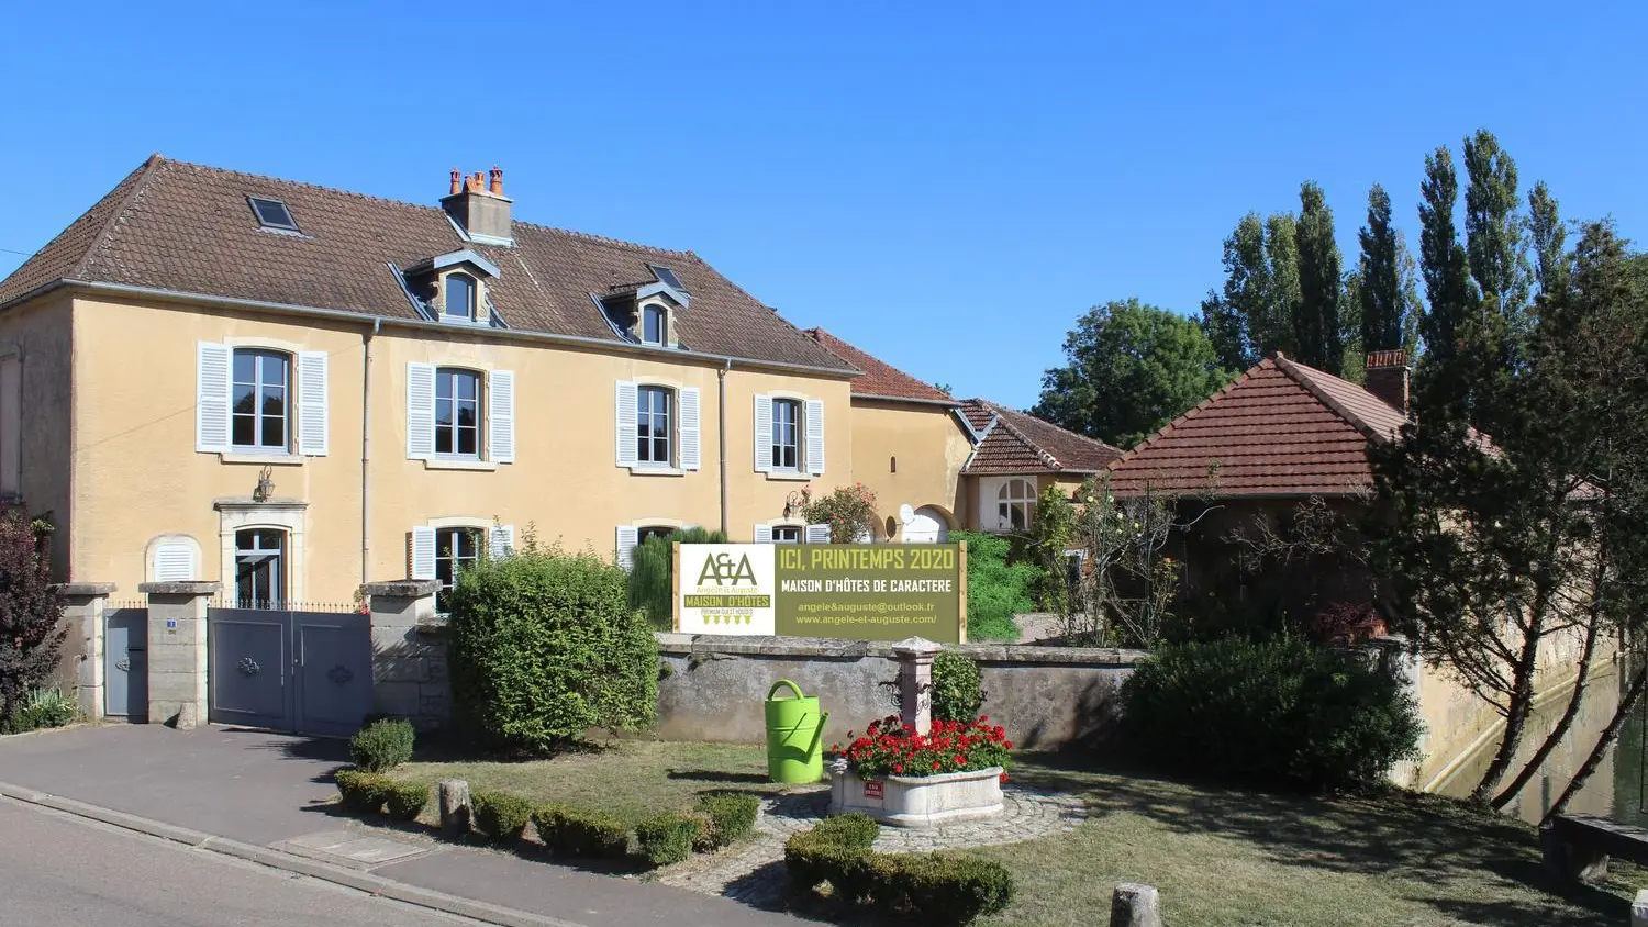
[[[396,779],[466,779],[470,789],[498,789],[541,802],[572,802],[638,823],[659,812],[686,810],[707,792],[778,795],[766,780],[766,748],[674,741],[615,741],[585,752],[526,762],[448,761],[396,767]]]

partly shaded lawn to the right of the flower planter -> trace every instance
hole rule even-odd
[[[1083,794],[1091,817],[977,850],[1018,883],[986,925],[1101,922],[1114,886],[1134,881],[1162,891],[1173,927],[1600,927],[1628,919],[1641,878],[1615,863],[1608,891],[1559,889],[1534,828],[1432,795],[1269,795],[1037,756],[1020,757],[1014,779]]]

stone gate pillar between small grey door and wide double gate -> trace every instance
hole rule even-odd
[[[206,606],[222,583],[143,583],[148,596],[148,721],[206,723]]]

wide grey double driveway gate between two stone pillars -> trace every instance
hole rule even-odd
[[[214,723],[353,734],[371,713],[369,616],[214,608],[206,622]]]

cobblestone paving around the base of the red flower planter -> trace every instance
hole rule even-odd
[[[784,841],[816,825],[827,807],[827,787],[768,799],[761,804],[753,838],[671,866],[659,873],[658,881],[727,896],[755,907],[775,907],[789,881],[784,873]],[[883,827],[875,848],[883,853],[928,853],[1018,843],[1071,830],[1086,817],[1088,805],[1078,797],[1007,785],[1002,789],[999,817],[936,828]]]

